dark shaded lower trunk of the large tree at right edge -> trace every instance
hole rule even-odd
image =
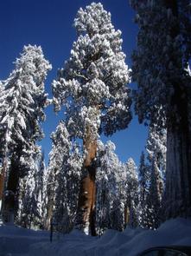
[[[180,119],[168,122],[167,170],[164,194],[164,218],[191,216],[191,141],[187,99],[174,96],[176,115]]]

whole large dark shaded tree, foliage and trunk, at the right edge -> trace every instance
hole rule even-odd
[[[132,77],[139,121],[167,128],[163,218],[191,215],[190,1],[131,0],[140,28]]]

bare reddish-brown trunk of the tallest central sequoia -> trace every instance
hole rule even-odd
[[[76,226],[85,233],[96,235],[95,231],[95,174],[96,168],[93,160],[97,152],[97,141],[92,141],[89,136],[84,140],[86,159],[83,165],[83,176],[80,181],[80,194],[77,209]]]

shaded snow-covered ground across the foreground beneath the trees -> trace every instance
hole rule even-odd
[[[151,246],[191,246],[191,219],[166,221],[156,231],[126,228],[123,233],[108,230],[101,237],[74,230],[56,235],[17,226],[0,226],[0,256],[135,256]]]

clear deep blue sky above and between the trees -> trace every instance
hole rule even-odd
[[[105,10],[111,12],[111,21],[122,31],[123,50],[126,62],[131,67],[131,51],[136,47],[137,26],[133,23],[134,12],[128,0],[102,0]],[[0,79],[6,79],[14,69],[13,62],[24,45],[41,45],[44,55],[52,63],[48,74],[46,90],[51,94],[51,82],[56,78],[57,69],[70,55],[76,39],[73,19],[80,9],[92,3],[89,0],[2,0],[0,1]],[[132,85],[131,85],[132,87]],[[53,107],[46,110],[47,120],[42,125],[45,139],[41,141],[46,161],[51,149],[51,132],[54,131],[63,113],[54,115]],[[134,115],[129,128],[119,131],[110,138],[116,144],[116,153],[121,161],[132,157],[137,164],[144,149],[147,128],[139,125]]]

